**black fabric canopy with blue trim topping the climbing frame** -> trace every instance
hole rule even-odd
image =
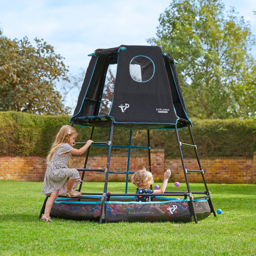
[[[121,45],[90,54],[77,106],[70,123],[129,129],[184,127],[191,124],[174,59],[159,46]],[[117,63],[114,96],[107,116],[99,116],[108,66]]]

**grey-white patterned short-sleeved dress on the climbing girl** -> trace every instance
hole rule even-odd
[[[63,153],[67,153],[72,150],[68,143],[62,144],[53,153],[52,158],[47,165],[44,183],[42,188],[42,194],[50,194],[53,191],[61,189],[67,190],[68,179],[80,179],[79,172],[76,169],[68,168],[68,158],[70,153],[61,156]],[[77,184],[76,184],[77,186]],[[63,190],[63,189],[61,189]],[[66,194],[66,191],[61,191],[59,194]]]

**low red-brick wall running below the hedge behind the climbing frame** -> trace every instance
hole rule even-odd
[[[73,167],[83,168],[85,157],[73,157]],[[256,153],[253,158],[246,159],[200,159],[207,183],[255,183]],[[107,157],[89,158],[87,168],[103,169],[107,166]],[[131,157],[130,172],[145,166],[148,169],[147,157]],[[185,166],[189,170],[198,170],[196,159],[185,158]],[[110,172],[125,172],[127,157],[111,156]],[[170,168],[170,181],[185,182],[181,160],[165,159],[163,150],[151,150],[151,170],[155,181],[162,181],[163,172]],[[46,169],[45,158],[37,156],[2,156],[0,157],[0,180],[43,181]],[[126,174],[109,174],[110,181],[124,181]],[[85,181],[103,181],[104,173],[85,172]],[[202,182],[201,174],[188,173],[189,182]]]

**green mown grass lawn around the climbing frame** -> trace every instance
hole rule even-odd
[[[108,191],[124,193],[124,182]],[[0,255],[256,255],[256,185],[209,184],[222,214],[189,223],[39,221],[42,182],[0,181]],[[169,183],[166,191],[186,191]],[[191,190],[204,191],[203,184]],[[103,182],[82,191],[102,192]],[[135,186],[129,184],[128,193]]]

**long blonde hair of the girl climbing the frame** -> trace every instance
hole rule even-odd
[[[75,135],[77,136],[77,131],[75,128],[73,128],[70,125],[63,125],[59,132],[56,135],[55,141],[53,142],[53,145],[51,147],[51,150],[49,151],[49,154],[46,158],[46,163],[48,164],[50,160],[52,159],[53,153],[57,150],[57,148],[65,143],[69,143],[70,136]]]

